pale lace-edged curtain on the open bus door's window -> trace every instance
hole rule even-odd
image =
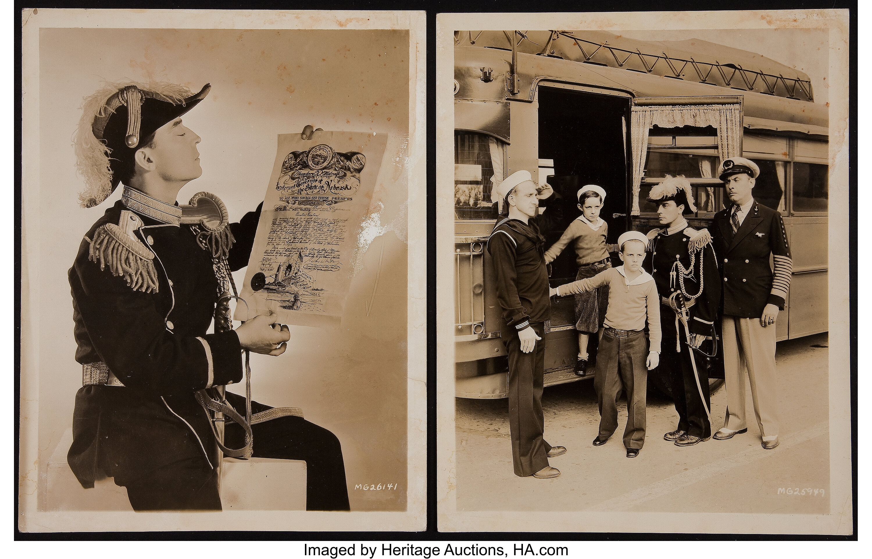
[[[742,112],[739,105],[634,106],[630,122],[633,149],[633,208],[639,215],[639,189],[648,155],[651,126],[713,126],[718,130],[720,160],[741,155]]]

